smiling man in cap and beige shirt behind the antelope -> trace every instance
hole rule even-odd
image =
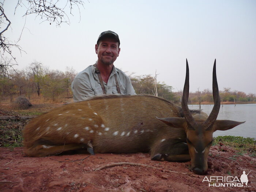
[[[98,60],[76,75],[71,84],[75,102],[94,95],[136,94],[129,77],[114,67],[120,52],[119,46],[119,37],[113,31],[104,31],[99,35],[95,45]]]

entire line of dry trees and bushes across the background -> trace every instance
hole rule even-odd
[[[42,63],[31,62],[23,70],[12,70],[8,73],[0,74],[0,99],[25,96],[30,99],[32,94],[40,95],[45,99],[56,101],[57,98],[72,97],[71,83],[74,80],[76,72],[73,68],[66,68],[65,72],[58,70],[49,70]],[[156,95],[155,78],[151,75],[131,76],[132,85],[137,94]],[[165,98],[174,103],[180,103],[182,90],[173,92],[173,87],[165,82],[157,82],[158,97]],[[230,88],[224,88],[220,91],[222,102],[256,102],[256,94],[246,95],[242,91],[231,91]],[[196,93],[189,93],[188,103],[206,102],[212,103],[212,91],[205,89]]]

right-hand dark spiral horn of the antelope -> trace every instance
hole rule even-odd
[[[214,106],[212,108],[211,114],[207,118],[206,121],[204,121],[203,127],[206,130],[212,129],[212,126],[217,119],[219,108],[221,106],[221,99],[219,98],[219,89],[218,89],[218,83],[217,83],[217,77],[216,77],[216,59],[214,61],[213,66],[213,73],[212,73],[212,94],[213,94],[213,100],[214,100]]]

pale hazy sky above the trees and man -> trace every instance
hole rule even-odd
[[[4,34],[12,41],[25,24],[24,6],[14,15],[16,3],[4,4],[12,22]],[[71,24],[60,27],[27,16],[18,43],[26,53],[20,56],[13,49],[19,64],[15,69],[36,60],[49,69],[73,67],[80,72],[97,60],[99,34],[112,30],[119,35],[121,48],[114,65],[128,75],[154,76],[157,70],[159,82],[181,90],[187,58],[190,91],[211,90],[216,59],[219,90],[256,93],[255,0],[84,0],[80,12],[81,19],[75,8],[74,16],[68,15]]]

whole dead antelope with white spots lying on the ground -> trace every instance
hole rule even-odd
[[[187,63],[182,109],[149,95],[102,96],[61,106],[25,127],[25,154],[42,157],[80,148],[87,148],[91,154],[150,151],[151,159],[159,161],[191,159],[193,172],[204,174],[212,133],[244,122],[216,120],[220,99],[215,63],[214,107],[209,117],[188,109],[188,93]],[[159,121],[156,117],[166,118]]]

